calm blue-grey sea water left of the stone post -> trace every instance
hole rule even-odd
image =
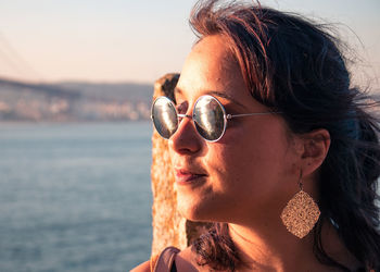
[[[150,123],[0,124],[0,271],[129,271],[151,246]]]

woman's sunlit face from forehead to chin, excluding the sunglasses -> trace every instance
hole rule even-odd
[[[223,37],[208,36],[194,46],[175,90],[177,108],[191,115],[197,99],[212,95],[227,113],[270,111],[252,98],[225,45]],[[189,220],[231,223],[279,217],[297,189],[291,143],[280,114],[229,120],[216,143],[183,119],[169,139],[179,211]]]

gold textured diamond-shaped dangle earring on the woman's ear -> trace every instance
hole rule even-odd
[[[317,223],[320,211],[314,199],[303,190],[302,171],[300,172],[299,185],[300,191],[283,208],[281,220],[291,234],[303,238]]]

